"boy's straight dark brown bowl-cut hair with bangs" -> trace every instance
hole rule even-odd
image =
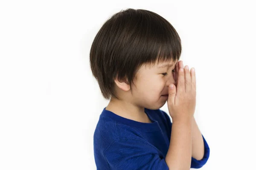
[[[114,79],[132,87],[140,66],[176,62],[180,54],[180,37],[166,19],[152,11],[128,8],[113,14],[96,34],[90,67],[103,97],[119,99]]]

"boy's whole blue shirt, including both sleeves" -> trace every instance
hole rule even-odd
[[[152,123],[126,119],[103,109],[93,135],[97,170],[169,170],[165,157],[172,122],[160,109],[145,108],[145,113]],[[209,152],[204,139],[204,158],[197,160],[192,157],[191,168],[202,167],[209,158]]]

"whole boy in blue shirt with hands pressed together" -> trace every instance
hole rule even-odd
[[[129,8],[104,23],[90,50],[93,76],[111,99],[94,132],[97,170],[188,170],[207,162],[209,146],[193,117],[195,71],[183,68],[180,54],[175,28],[154,12]],[[160,110],[166,101],[172,122]]]

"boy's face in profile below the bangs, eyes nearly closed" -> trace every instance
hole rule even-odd
[[[133,95],[140,105],[149,109],[161,108],[168,96],[168,86],[175,84],[176,62],[159,62],[151,68],[143,65],[137,73],[136,87],[133,87]],[[166,65],[162,67],[162,65]],[[139,100],[139,101],[138,101]]]

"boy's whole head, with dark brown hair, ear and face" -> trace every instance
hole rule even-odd
[[[161,108],[173,69],[180,59],[181,40],[160,15],[143,9],[114,14],[100,28],[90,50],[93,76],[105,99],[144,108]],[[173,64],[159,68],[163,64]],[[167,74],[165,74],[167,73]]]

